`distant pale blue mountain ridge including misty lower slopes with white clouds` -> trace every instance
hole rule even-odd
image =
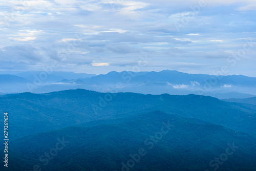
[[[16,88],[15,85],[5,86],[4,84],[0,85],[2,93],[48,93],[70,89],[86,89],[97,92],[198,94],[224,99],[256,96],[256,78],[243,75],[212,76],[169,70],[160,72],[112,71],[101,75],[53,72],[47,76],[47,79],[40,80],[40,72],[36,72],[34,75],[32,73],[17,74],[29,80],[27,83],[22,82],[22,90]],[[35,75],[37,76],[36,79],[34,78]],[[32,89],[29,89],[28,83]]]

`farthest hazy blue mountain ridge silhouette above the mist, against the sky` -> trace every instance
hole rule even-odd
[[[234,86],[245,86],[255,85],[256,78],[246,77],[243,75],[228,75],[228,76],[214,76],[206,74],[187,74],[178,71],[169,71],[163,70],[160,72],[110,72],[105,75],[97,75],[91,79],[86,79],[88,81],[98,83],[98,82],[129,82],[129,83],[142,83],[142,82],[169,82],[172,84],[185,84],[190,85],[191,82],[200,83],[204,85],[206,82],[214,82],[217,79],[216,83],[212,83],[212,87],[215,86],[224,86],[224,84],[234,85]],[[196,83],[196,84],[197,84]]]

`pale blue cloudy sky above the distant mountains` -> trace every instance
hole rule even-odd
[[[254,0],[2,0],[0,14],[0,71],[256,77]]]

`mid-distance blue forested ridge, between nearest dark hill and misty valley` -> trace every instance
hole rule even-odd
[[[10,114],[12,139],[97,119],[127,117],[155,110],[250,134],[256,131],[256,106],[225,102],[210,96],[110,94],[78,89],[2,95],[0,105],[1,113]]]

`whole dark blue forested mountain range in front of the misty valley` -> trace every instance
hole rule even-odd
[[[77,89],[1,95],[0,104],[10,134],[3,170],[256,169],[251,103]]]

